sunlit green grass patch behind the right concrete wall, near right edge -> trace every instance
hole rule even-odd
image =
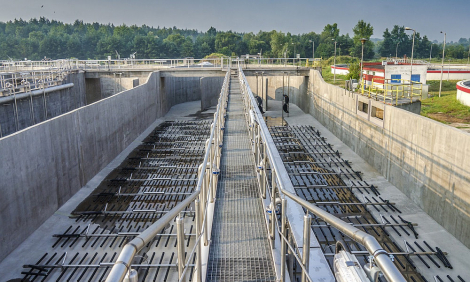
[[[458,80],[443,80],[439,98],[439,81],[428,81],[429,98],[421,101],[421,115],[442,123],[470,123],[470,107],[457,100]]]

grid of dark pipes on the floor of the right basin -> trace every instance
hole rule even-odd
[[[351,163],[342,158],[341,152],[320,131],[312,126],[271,126],[269,130],[297,195],[376,237],[384,250],[394,254],[395,265],[407,281],[431,279],[424,277],[426,273],[418,272],[418,263],[439,271],[448,281],[465,281],[449,272],[452,265],[447,253],[423,241],[419,226],[403,218],[394,203],[382,198],[377,188],[368,184],[359,171],[354,171]],[[380,218],[374,217],[372,211],[379,213]],[[344,241],[361,265],[368,262],[369,253],[362,245],[313,214],[311,227],[332,269],[337,240]],[[393,240],[392,232],[404,242]],[[294,270],[300,274],[298,267]],[[439,275],[434,279],[447,281]],[[378,280],[386,281],[384,277]]]

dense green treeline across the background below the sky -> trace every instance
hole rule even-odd
[[[237,33],[218,31],[211,27],[206,32],[194,29],[160,28],[143,26],[114,26],[113,24],[84,23],[76,20],[73,24],[46,18],[25,21],[0,22],[0,60],[14,59],[41,60],[62,59],[106,59],[108,56],[128,58],[203,58],[212,53],[226,56],[262,53],[264,57],[312,57],[313,42],[315,57],[333,56],[335,42],[337,55],[360,57],[361,39],[364,44],[364,58],[411,55],[412,32],[395,26],[391,32],[384,32],[384,40],[374,43],[370,40],[373,27],[359,21],[353,28],[352,37],[340,34],[337,24],[328,24],[320,34],[315,32],[294,35],[280,31],[259,31],[258,33]],[[446,46],[446,57],[464,58],[469,40]],[[398,48],[396,44],[398,43]],[[419,33],[415,37],[415,58],[439,57],[441,45],[431,43]]]

